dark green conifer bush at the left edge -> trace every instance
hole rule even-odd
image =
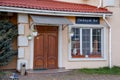
[[[17,50],[12,48],[17,33],[17,27],[11,22],[0,21],[0,66],[7,65],[17,54]]]

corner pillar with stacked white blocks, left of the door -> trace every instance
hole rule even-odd
[[[28,14],[18,14],[18,60],[17,70],[20,71],[22,64],[25,64],[25,69],[28,69],[29,45],[27,35],[29,35],[29,20]]]

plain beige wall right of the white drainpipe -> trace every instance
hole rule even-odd
[[[120,66],[120,0],[115,0],[114,7],[108,7],[113,12],[109,22],[112,26],[112,63]]]

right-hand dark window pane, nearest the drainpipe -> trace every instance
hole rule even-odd
[[[92,38],[92,54],[101,54],[101,29],[93,29]]]

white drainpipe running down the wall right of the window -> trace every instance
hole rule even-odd
[[[106,19],[106,15],[103,14],[103,19],[109,27],[109,68],[112,68],[112,38],[111,38],[111,25]]]

